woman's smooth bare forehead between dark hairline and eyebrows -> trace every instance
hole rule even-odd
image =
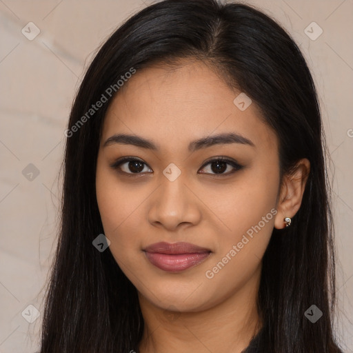
[[[256,104],[243,111],[234,104],[239,94],[199,61],[173,70],[145,68],[110,103],[102,140],[124,132],[158,141],[168,150],[210,134],[236,132],[255,145],[276,148],[276,134],[263,123]]]

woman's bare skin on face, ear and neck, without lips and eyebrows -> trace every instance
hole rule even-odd
[[[284,217],[299,210],[310,163],[299,161],[280,183],[276,134],[254,102],[244,111],[234,105],[239,93],[204,63],[187,61],[170,72],[162,66],[138,71],[108,108],[97,201],[110,251],[139,294],[145,321],[141,353],[241,352],[261,327],[256,310],[261,259],[273,228],[284,228]],[[241,134],[254,146],[188,150],[190,141],[222,132]],[[154,141],[160,150],[103,145],[118,133]],[[133,174],[128,162],[112,168],[121,157],[142,159],[142,172]],[[228,174],[234,168],[226,165],[216,174],[212,164],[205,165],[213,157],[234,159],[243,168]],[[170,163],[181,170],[174,181],[163,174]],[[276,215],[212,279],[205,276],[272,209]],[[165,272],[142,251],[159,241],[186,241],[212,254],[183,272]]]

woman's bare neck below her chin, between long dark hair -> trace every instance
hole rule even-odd
[[[139,353],[240,353],[261,327],[258,284],[254,276],[225,301],[199,312],[170,312],[139,293],[144,319]]]

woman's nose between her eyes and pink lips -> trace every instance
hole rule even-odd
[[[148,221],[155,227],[174,231],[181,224],[191,226],[201,220],[202,203],[196,192],[185,183],[182,174],[174,181],[163,176],[161,185],[148,202]]]

